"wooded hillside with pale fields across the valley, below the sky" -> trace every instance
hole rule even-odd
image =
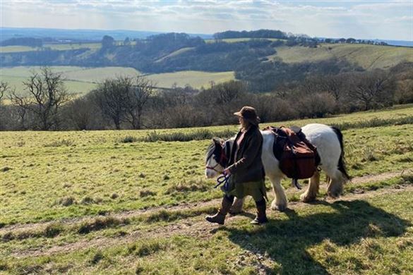
[[[309,75],[388,69],[400,62],[413,62],[413,48],[361,41],[357,42],[359,44],[318,44],[316,39],[305,37],[204,40],[184,33],[154,35],[127,42],[115,41],[108,36],[104,39],[102,44],[44,44],[47,47],[30,48],[30,51],[28,47],[20,47],[22,51],[18,51],[18,46],[3,47],[1,63],[3,67],[124,67],[145,75],[184,71],[202,72],[199,74],[234,72],[235,78],[246,82],[251,91],[269,92],[286,83],[301,82]],[[101,74],[99,80],[107,75],[104,71]],[[80,77],[83,81],[81,78],[83,76]],[[86,82],[96,82],[88,75],[84,78],[87,78]],[[168,84],[171,82],[181,81],[167,81]],[[196,83],[194,87],[205,85],[203,80],[187,83],[193,82]]]

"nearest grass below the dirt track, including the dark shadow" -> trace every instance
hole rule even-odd
[[[284,213],[271,212],[265,226],[251,226],[249,217],[241,217],[204,233],[194,228],[198,232],[194,236],[165,233],[109,247],[19,257],[18,261],[11,255],[18,249],[9,245],[24,243],[11,240],[4,243],[0,267],[19,274],[409,274],[413,271],[409,260],[413,212],[406,209],[413,203],[412,195],[410,191],[349,202],[321,201]],[[162,229],[162,224],[153,226]],[[137,224],[135,229],[148,230]],[[130,229],[121,230],[123,236],[133,234]],[[107,234],[89,237],[98,236]],[[116,234],[109,236],[109,240],[116,238],[122,241]],[[65,242],[61,236],[49,241]]]

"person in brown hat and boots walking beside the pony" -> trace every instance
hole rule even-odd
[[[251,195],[256,202],[257,214],[251,224],[263,224],[268,221],[265,214],[265,172],[261,152],[263,150],[263,136],[258,123],[260,118],[251,106],[244,106],[234,113],[239,118],[240,130],[234,140],[228,167],[223,173],[229,177],[222,204],[217,214],[206,216],[210,223],[224,224],[225,216],[234,202],[234,197],[242,199]]]

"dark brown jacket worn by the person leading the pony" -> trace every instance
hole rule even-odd
[[[265,176],[263,161],[261,161],[263,135],[261,135],[257,126],[251,126],[244,134],[244,138],[241,140],[238,148],[237,140],[240,135],[241,131],[239,131],[237,138],[235,138],[228,169],[234,176],[236,183],[261,181]],[[234,159],[235,155],[237,155],[237,159]]]

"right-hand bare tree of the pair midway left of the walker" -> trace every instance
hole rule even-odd
[[[148,99],[154,94],[155,83],[148,78],[138,76],[133,80],[133,87],[128,93],[126,120],[131,123],[133,129],[142,128],[142,114]]]

